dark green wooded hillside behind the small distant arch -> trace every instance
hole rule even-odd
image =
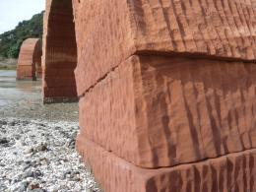
[[[15,30],[0,34],[0,56],[17,58],[23,41],[29,37],[42,36],[43,12],[32,16],[29,21],[18,24]]]

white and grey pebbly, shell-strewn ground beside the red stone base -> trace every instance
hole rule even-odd
[[[75,122],[0,119],[0,191],[98,192],[75,150]]]

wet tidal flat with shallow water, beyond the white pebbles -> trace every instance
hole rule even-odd
[[[41,81],[16,81],[16,71],[0,70],[0,117],[78,121],[78,103],[42,104]]]

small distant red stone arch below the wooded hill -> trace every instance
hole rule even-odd
[[[39,38],[28,38],[23,42],[17,63],[17,80],[36,80],[40,77],[41,54]]]

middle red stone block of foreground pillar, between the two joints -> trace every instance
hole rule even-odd
[[[132,56],[80,99],[81,132],[142,167],[256,147],[256,65]]]

